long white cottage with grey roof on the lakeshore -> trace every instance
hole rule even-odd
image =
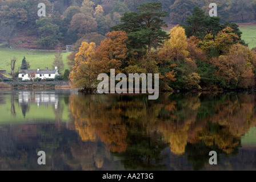
[[[19,71],[19,78],[22,78],[22,80],[30,80],[29,73],[34,74],[35,78],[41,79],[55,78],[55,76],[59,75],[57,67],[55,67],[55,69],[21,69]]]

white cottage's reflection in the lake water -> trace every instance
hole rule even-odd
[[[58,108],[59,98],[54,92],[19,92],[19,104],[55,105]]]

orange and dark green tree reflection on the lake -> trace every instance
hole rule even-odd
[[[186,154],[195,169],[208,163],[211,150],[237,154],[241,136],[256,124],[254,107],[254,94],[239,93],[167,93],[157,101],[111,94],[70,96],[82,140],[101,139],[131,169],[162,168],[161,151],[168,146],[175,155]]]

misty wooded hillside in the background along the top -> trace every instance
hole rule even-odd
[[[0,1],[0,42],[7,42],[13,47],[43,49],[54,49],[58,43],[62,43],[63,48],[67,44],[82,41],[99,44],[110,28],[121,22],[121,17],[125,13],[138,11],[137,7],[140,4],[148,2],[151,0]],[[155,2],[162,3],[165,14],[162,19],[168,24],[185,23],[187,17],[192,15],[195,6],[205,11],[205,14],[209,14],[210,10],[208,0],[155,0]],[[221,23],[256,20],[254,0],[215,2],[218,5]],[[46,17],[40,18],[37,15],[38,3],[45,4]],[[246,32],[245,30],[245,34]]]

